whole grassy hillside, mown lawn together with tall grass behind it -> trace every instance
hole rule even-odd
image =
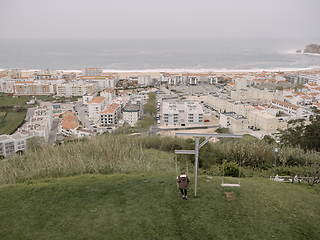
[[[54,147],[37,142],[0,160],[0,239],[319,238],[319,186],[258,177],[272,174],[274,145],[265,141],[206,144],[197,197],[192,184],[187,201],[175,177],[187,166],[193,177],[192,159],[173,150],[194,148],[192,139],[102,135]],[[278,157],[276,173],[305,174],[319,160],[316,152],[285,147]],[[227,161],[239,170],[237,159],[241,187],[222,188],[219,166]]]

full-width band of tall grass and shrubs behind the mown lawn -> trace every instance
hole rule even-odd
[[[203,170],[214,168],[216,171],[215,167],[226,160],[268,175],[273,170],[274,148],[279,147],[261,140],[242,139],[226,139],[207,145],[199,155]],[[92,139],[75,139],[60,146],[29,150],[2,160],[0,184],[85,173],[165,171],[171,174],[176,166],[174,150],[193,147],[192,140],[179,137],[102,135]],[[194,156],[190,155],[177,159],[183,160],[181,164],[187,166],[192,163],[191,158],[194,160]],[[276,174],[307,176],[319,168],[319,163],[318,152],[305,153],[299,148],[281,147]]]

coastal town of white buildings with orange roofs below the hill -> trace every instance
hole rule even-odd
[[[13,98],[32,96],[23,124],[13,134],[0,135],[0,155],[7,157],[25,150],[33,137],[53,145],[68,137],[113,133],[124,125],[133,128],[145,116],[150,92],[156,94],[157,113],[147,134],[224,128],[234,134],[276,139],[287,121],[307,121],[320,107],[320,71],[4,70],[0,92]],[[2,116],[0,112],[0,124]]]

